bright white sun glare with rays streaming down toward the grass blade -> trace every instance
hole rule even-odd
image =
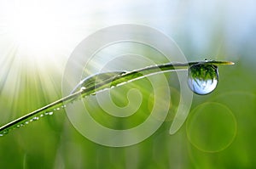
[[[18,109],[20,100],[30,105],[42,93],[54,97],[60,90],[68,56],[84,38],[73,24],[80,18],[68,17],[77,11],[67,7],[49,0],[0,1],[0,101],[7,97],[8,107]]]

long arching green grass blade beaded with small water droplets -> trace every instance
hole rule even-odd
[[[73,92],[62,99],[56,100],[55,102],[45,105],[44,107],[32,111],[29,114],[23,115],[14,121],[10,121],[6,125],[0,127],[0,136],[8,133],[9,131],[17,128],[26,126],[27,123],[37,121],[39,116],[44,116],[45,112],[50,112],[54,109],[64,108],[66,104],[73,102],[74,100],[81,99],[91,94],[96,94],[104,89],[110,87],[116,87],[124,85],[127,82],[136,81],[146,76],[154,75],[156,73],[162,73],[165,71],[176,71],[186,70],[190,65],[195,64],[209,64],[209,65],[234,65],[233,62],[228,61],[201,61],[201,62],[189,62],[189,63],[168,63],[163,65],[151,65],[138,70],[131,71],[113,71],[101,73],[96,76],[90,76],[84,81],[80,82],[77,87],[74,88]]]

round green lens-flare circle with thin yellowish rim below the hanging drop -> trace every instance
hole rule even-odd
[[[187,136],[189,142],[201,151],[222,151],[236,137],[236,117],[224,104],[200,104],[189,115]]]

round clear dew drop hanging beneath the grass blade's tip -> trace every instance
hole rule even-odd
[[[197,94],[211,93],[218,84],[218,67],[216,65],[197,64],[189,67],[188,85]]]

